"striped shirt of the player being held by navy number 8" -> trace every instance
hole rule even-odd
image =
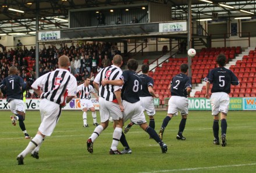
[[[116,85],[105,85],[104,87],[101,85],[102,80],[123,80],[123,71],[115,65],[105,67],[102,69],[97,76],[95,77],[94,82],[99,84],[99,96],[108,101],[113,101],[116,99],[115,91],[118,89],[122,89],[120,86]]]

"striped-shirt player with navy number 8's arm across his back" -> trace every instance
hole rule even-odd
[[[109,116],[113,118],[115,130],[113,132],[113,140],[109,154],[122,154],[118,150],[118,143],[122,135],[123,127],[123,104],[121,100],[122,87],[116,85],[101,84],[103,80],[119,80],[123,79],[123,71],[120,67],[123,64],[122,56],[115,55],[112,60],[113,65],[102,69],[93,82],[95,89],[99,94],[99,113],[101,114],[101,124],[98,125],[93,134],[87,140],[87,151],[93,153],[93,143],[101,132],[108,127]]]

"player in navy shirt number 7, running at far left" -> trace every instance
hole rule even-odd
[[[16,125],[16,121],[19,121],[20,128],[22,129],[25,138],[30,139],[23,122],[25,120],[26,112],[25,103],[23,102],[23,92],[26,89],[26,82],[24,82],[17,73],[17,67],[10,67],[10,75],[3,79],[0,88],[1,90],[5,90],[7,95],[6,101],[9,103],[10,111],[15,114],[15,116],[10,116],[12,124]]]

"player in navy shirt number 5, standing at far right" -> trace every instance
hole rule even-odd
[[[219,145],[219,113],[221,113],[221,142],[222,146],[226,146],[226,131],[227,131],[227,111],[229,110],[229,93],[230,85],[239,85],[236,75],[226,69],[226,56],[219,55],[216,62],[219,67],[209,71],[207,77],[204,78],[206,81],[206,94],[205,98],[210,98],[209,88],[212,85],[211,105],[212,105],[212,116],[214,116],[214,125],[212,129],[214,131],[214,144]]]

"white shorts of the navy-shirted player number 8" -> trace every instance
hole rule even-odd
[[[141,109],[140,102],[130,103],[123,100],[123,107],[125,109],[123,113],[123,122],[130,119],[135,124],[144,124],[146,121],[143,110]]]

